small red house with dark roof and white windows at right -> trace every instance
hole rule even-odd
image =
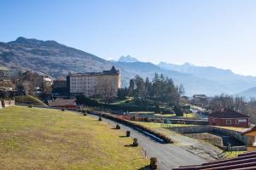
[[[230,109],[215,111],[208,115],[209,124],[220,127],[248,127],[248,118],[249,116]]]

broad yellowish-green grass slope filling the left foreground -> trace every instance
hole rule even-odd
[[[69,111],[0,110],[1,169],[138,169],[149,162],[108,123]]]

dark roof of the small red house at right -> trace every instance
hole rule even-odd
[[[230,110],[230,109],[225,109],[223,111],[215,111],[209,114],[209,116],[212,117],[218,117],[218,118],[245,118],[249,117],[247,115],[244,115],[238,111]]]

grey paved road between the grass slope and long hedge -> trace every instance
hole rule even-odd
[[[90,115],[92,116],[92,115]],[[98,118],[98,116],[93,116]],[[115,127],[116,122],[102,118],[103,122],[108,122]],[[161,144],[158,141],[134,130],[131,127],[120,124],[121,129],[131,131],[131,138],[137,138],[140,147],[146,150],[148,157],[157,157],[160,170],[171,170],[173,167],[182,165],[201,164],[206,162],[203,158],[195,156],[188,150],[185,150],[176,144]],[[124,133],[125,135],[125,133]]]

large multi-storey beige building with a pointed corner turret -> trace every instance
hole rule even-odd
[[[71,95],[116,96],[120,86],[120,72],[114,66],[110,71],[75,73],[67,76],[67,88]]]

